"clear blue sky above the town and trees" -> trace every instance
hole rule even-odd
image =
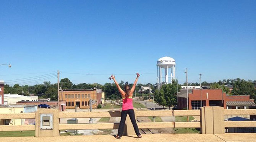
[[[0,80],[60,70],[77,83],[156,83],[156,61],[178,79],[256,79],[255,0],[1,1]],[[88,75],[89,74],[89,75]],[[133,75],[134,74],[134,75]],[[52,83],[57,79],[48,79]],[[41,83],[33,82],[35,83]]]

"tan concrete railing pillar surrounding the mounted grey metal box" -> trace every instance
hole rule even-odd
[[[60,136],[59,132],[59,118],[58,118],[58,110],[53,109],[44,109],[36,111],[36,137],[54,137]],[[51,114],[52,115],[52,129],[41,130],[40,129],[40,115],[41,114]],[[50,122],[51,123],[51,122]]]

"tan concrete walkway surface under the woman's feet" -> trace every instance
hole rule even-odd
[[[112,135],[58,136],[58,137],[1,137],[2,142],[256,142],[255,133],[228,134],[148,134],[141,139]]]

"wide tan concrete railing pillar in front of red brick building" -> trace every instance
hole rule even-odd
[[[224,108],[204,106],[200,108],[201,134],[224,134]]]

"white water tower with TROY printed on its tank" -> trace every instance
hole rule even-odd
[[[175,79],[175,60],[171,57],[162,57],[157,60],[157,89],[162,87],[162,70],[164,69],[164,84],[172,83]]]

